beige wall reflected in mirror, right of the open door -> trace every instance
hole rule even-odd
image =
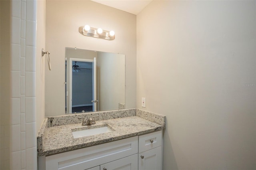
[[[98,52],[99,110],[118,109],[125,104],[125,56]]]

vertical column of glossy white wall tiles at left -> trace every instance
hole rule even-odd
[[[37,2],[10,2],[10,168],[36,170]]]

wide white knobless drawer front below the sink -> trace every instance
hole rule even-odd
[[[46,170],[85,170],[138,153],[138,136],[46,156]]]

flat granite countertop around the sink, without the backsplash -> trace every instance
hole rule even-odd
[[[82,126],[82,123],[78,123],[46,127],[47,132],[44,134],[44,146],[42,150],[38,151],[38,156],[48,156],[51,154],[103,144],[114,140],[162,130],[165,127],[165,125],[160,125],[138,116],[101,121],[97,121],[97,118],[95,119],[95,125]],[[114,131],[81,138],[74,138],[72,135],[72,131],[104,126],[108,126]]]

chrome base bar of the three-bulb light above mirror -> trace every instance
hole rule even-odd
[[[101,38],[101,39],[104,39],[104,40],[114,40],[116,38],[115,35],[110,36],[109,31],[102,30],[102,33],[99,34],[97,32],[97,30],[98,30],[97,28],[90,27],[90,30],[86,31],[84,29],[84,26],[79,27],[79,32],[84,36],[89,36],[89,37],[94,37],[94,38]]]

